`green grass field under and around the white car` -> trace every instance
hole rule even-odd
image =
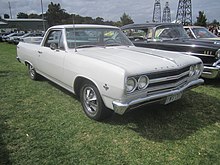
[[[218,165],[220,80],[95,122],[71,93],[30,80],[16,47],[0,43],[0,164]]]

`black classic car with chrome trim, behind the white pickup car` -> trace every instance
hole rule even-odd
[[[204,63],[202,77],[220,77],[220,44],[190,39],[181,24],[130,24],[121,29],[138,47],[184,52],[199,57]]]

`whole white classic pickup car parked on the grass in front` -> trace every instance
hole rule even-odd
[[[202,84],[201,59],[180,54],[135,47],[119,28],[104,25],[54,26],[41,44],[17,45],[17,60],[31,79],[42,75],[69,90],[94,120],[168,104]]]

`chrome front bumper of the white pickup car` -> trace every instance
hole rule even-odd
[[[123,102],[122,103],[120,101],[113,101],[113,103],[112,103],[113,109],[114,109],[115,113],[122,115],[127,110],[132,109],[131,107],[135,107],[135,106],[137,107],[140,104],[149,104],[149,103],[155,102],[155,100],[158,102],[158,101],[165,99],[168,96],[177,95],[187,89],[191,89],[191,88],[196,87],[198,85],[201,85],[203,83],[204,83],[203,79],[198,79],[198,80],[190,82],[189,84],[187,84],[186,86],[184,86],[182,88],[179,88],[179,89],[176,89],[173,91],[169,91],[169,92],[165,92],[165,93],[155,94],[152,96],[146,96],[144,98],[138,98],[138,99],[133,100],[131,102]]]

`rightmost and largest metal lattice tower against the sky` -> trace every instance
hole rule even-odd
[[[181,22],[183,25],[192,25],[191,0],[179,0],[176,22]]]

